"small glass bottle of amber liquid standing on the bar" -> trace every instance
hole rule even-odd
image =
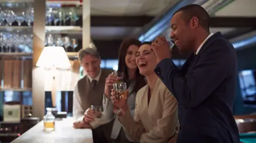
[[[44,116],[44,131],[55,130],[55,116],[52,114],[52,108],[46,108],[46,115]]]

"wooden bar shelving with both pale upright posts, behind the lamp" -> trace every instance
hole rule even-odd
[[[42,119],[44,115],[44,100],[45,100],[45,88],[44,88],[44,70],[42,68],[36,67],[36,61],[39,58],[42,49],[44,48],[45,44],[45,36],[52,34],[52,35],[68,35],[71,38],[77,38],[83,36],[83,46],[87,47],[92,41],[90,39],[90,19],[83,18],[83,28],[81,26],[43,26],[42,22],[45,21],[45,12],[46,7],[62,7],[62,6],[73,6],[77,9],[77,14],[86,13],[89,10],[90,14],[90,1],[84,0],[84,3],[80,0],[0,0],[0,4],[10,4],[21,6],[22,9],[26,6],[24,5],[31,5],[33,3],[34,6],[34,23],[33,26],[0,26],[0,32],[10,32],[10,33],[28,33],[33,34],[33,52],[31,53],[0,53],[0,59],[3,61],[5,59],[14,59],[14,60],[31,60],[31,87],[24,87],[20,88],[13,88],[13,87],[4,87],[4,80],[3,80],[3,73],[1,72],[2,76],[2,83],[0,92],[5,91],[31,91],[33,95],[33,116],[40,117]],[[28,4],[24,4],[28,3]],[[86,3],[86,4],[85,4]],[[89,3],[89,5],[88,5]],[[81,9],[81,7],[83,7]],[[89,32],[88,32],[89,31]],[[36,44],[35,44],[36,43]],[[31,46],[30,46],[31,47]],[[68,51],[68,50],[67,50]],[[71,51],[71,50],[70,50]],[[67,52],[69,58],[77,58],[76,52]],[[58,56],[58,54],[57,54]],[[76,64],[77,65],[77,64]],[[1,71],[3,71],[3,66],[1,65]],[[33,76],[32,76],[33,74]],[[42,76],[41,76],[42,75]],[[33,88],[32,88],[33,87]],[[70,89],[68,89],[70,91]]]

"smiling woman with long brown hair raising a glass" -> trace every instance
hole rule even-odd
[[[91,124],[92,128],[97,128],[99,125],[108,123],[114,119],[113,129],[110,131],[111,138],[113,139],[111,142],[133,142],[127,133],[125,133],[122,124],[116,117],[116,113],[120,110],[111,103],[110,92],[113,89],[113,85],[116,89],[120,89],[120,92],[125,91],[123,94],[119,94],[117,98],[127,98],[127,107],[131,111],[131,116],[133,116],[135,95],[140,88],[146,85],[145,77],[139,73],[138,66],[135,62],[136,53],[140,45],[141,42],[137,39],[130,38],[123,40],[118,54],[118,71],[109,74],[106,79],[102,116],[95,118],[91,109],[87,110],[85,114],[85,120]]]

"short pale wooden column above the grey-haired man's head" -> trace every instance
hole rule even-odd
[[[91,3],[83,0],[83,48],[90,46],[91,41]]]

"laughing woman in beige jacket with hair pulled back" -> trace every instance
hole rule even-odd
[[[116,100],[115,96],[111,99],[121,108],[117,116],[131,139],[140,143],[174,143],[178,136],[175,133],[178,103],[154,72],[157,61],[150,45],[150,42],[143,43],[137,52],[136,63],[148,84],[137,92],[134,118],[126,99]],[[115,95],[114,90],[111,95]]]

